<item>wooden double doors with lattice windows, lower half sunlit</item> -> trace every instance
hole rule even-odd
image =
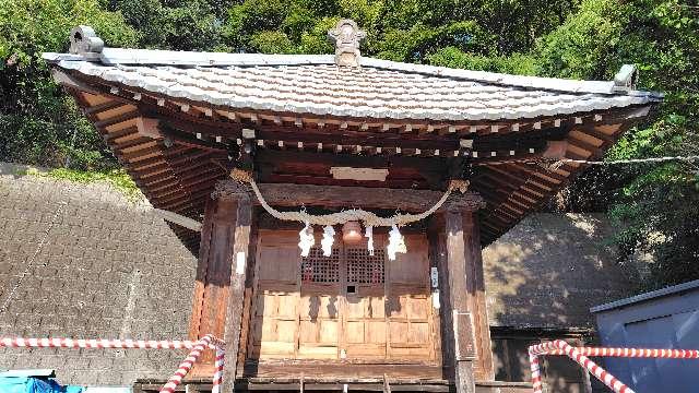
[[[317,245],[320,242],[317,239]],[[439,324],[431,306],[424,235],[389,261],[386,236],[319,248],[301,258],[296,231],[260,230],[250,309],[249,359],[437,361]]]

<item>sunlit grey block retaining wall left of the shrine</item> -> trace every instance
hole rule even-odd
[[[187,338],[197,261],[147,203],[106,184],[15,172],[5,165],[0,175],[0,306],[12,294],[1,336]],[[167,378],[185,356],[2,348],[0,370],[54,368],[62,383],[123,385]]]

